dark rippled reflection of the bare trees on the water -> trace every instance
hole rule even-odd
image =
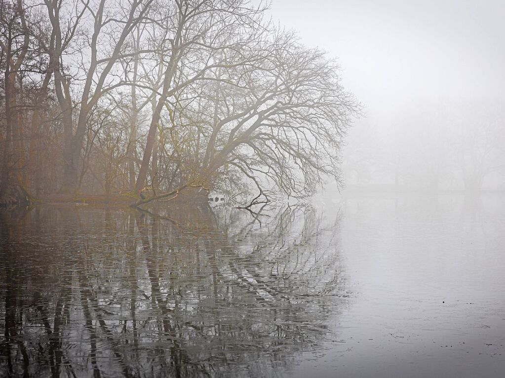
[[[0,375],[279,376],[345,303],[312,208],[3,217]]]

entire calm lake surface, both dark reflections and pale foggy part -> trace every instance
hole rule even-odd
[[[0,376],[505,376],[505,199],[0,218]]]

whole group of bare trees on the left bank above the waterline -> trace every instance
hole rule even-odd
[[[0,0],[0,196],[341,183],[360,104],[247,0]],[[13,192],[14,191],[14,192]]]

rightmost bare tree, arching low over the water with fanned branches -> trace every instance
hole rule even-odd
[[[323,175],[340,182],[339,148],[359,104],[340,86],[334,62],[294,35],[280,34],[267,51],[262,66],[229,78],[246,89],[238,101],[236,90],[224,98],[227,107],[204,158],[205,178],[234,167],[261,194],[266,179],[293,197],[313,193]]]

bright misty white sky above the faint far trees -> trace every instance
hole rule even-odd
[[[338,58],[369,115],[419,99],[504,97],[503,1],[274,0],[271,14]]]

